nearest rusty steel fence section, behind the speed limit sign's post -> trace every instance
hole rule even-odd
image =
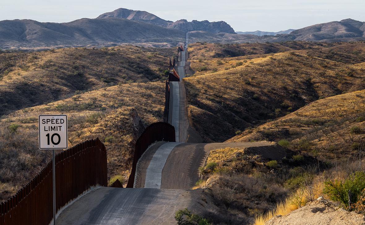
[[[92,187],[107,186],[107,153],[99,139],[55,156],[56,210]],[[26,186],[0,203],[0,225],[49,225],[53,219],[52,161]]]

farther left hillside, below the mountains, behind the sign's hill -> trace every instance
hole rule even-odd
[[[117,84],[164,80],[173,49],[120,46],[0,54],[0,115]]]

